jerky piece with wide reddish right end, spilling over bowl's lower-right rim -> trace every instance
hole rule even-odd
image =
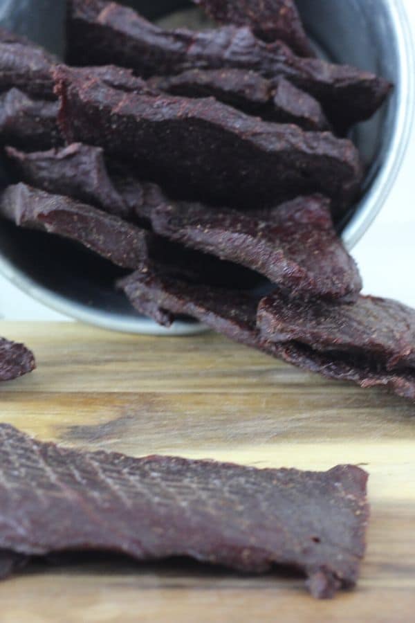
[[[335,234],[330,201],[318,195],[282,206],[273,224],[201,204],[165,204],[151,215],[159,235],[266,276],[291,296],[356,299],[362,281]]]

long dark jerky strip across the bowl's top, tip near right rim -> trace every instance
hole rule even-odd
[[[115,62],[149,78],[187,69],[239,68],[264,78],[287,78],[322,102],[340,130],[370,118],[391,84],[367,71],[296,56],[282,42],[266,44],[248,27],[223,26],[195,33],[163,30],[130,8],[104,0],[68,4],[71,64]]]

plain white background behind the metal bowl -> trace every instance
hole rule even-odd
[[[415,0],[405,0],[415,37]],[[415,307],[415,124],[405,163],[376,222],[353,249],[365,291]],[[65,320],[0,276],[0,316],[11,320]]]

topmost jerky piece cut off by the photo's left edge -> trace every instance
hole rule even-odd
[[[0,91],[16,87],[42,100],[55,99],[50,69],[57,62],[28,39],[0,29]]]

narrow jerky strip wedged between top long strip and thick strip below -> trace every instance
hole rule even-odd
[[[190,69],[172,76],[156,76],[151,87],[189,98],[216,100],[276,123],[295,123],[309,131],[330,128],[320,103],[285,78],[274,83],[243,69]]]

